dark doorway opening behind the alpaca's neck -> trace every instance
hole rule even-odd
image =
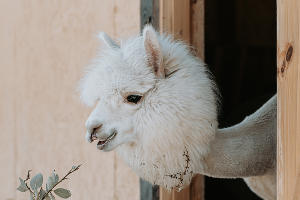
[[[205,1],[205,58],[222,96],[219,126],[276,93],[276,0]],[[205,178],[205,199],[255,200],[242,179]]]

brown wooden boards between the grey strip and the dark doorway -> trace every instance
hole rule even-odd
[[[159,28],[195,47],[195,54],[204,59],[204,0],[160,0]],[[181,192],[168,192],[160,188],[161,200],[204,199],[204,177],[193,178],[189,187]]]

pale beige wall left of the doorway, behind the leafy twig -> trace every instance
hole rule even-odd
[[[80,163],[64,184],[72,200],[139,198],[138,177],[84,140],[90,109],[76,87],[100,30],[138,33],[139,0],[0,1],[1,199],[28,199],[16,191],[27,169],[63,175]]]

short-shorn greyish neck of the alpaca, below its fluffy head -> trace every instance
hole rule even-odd
[[[217,130],[202,174],[219,178],[258,176],[274,168],[276,96],[241,123]]]

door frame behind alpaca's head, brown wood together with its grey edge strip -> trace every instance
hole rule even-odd
[[[172,34],[195,47],[195,54],[204,59],[204,0],[141,0],[141,30],[151,23],[156,30]],[[141,199],[203,200],[204,177],[197,175],[189,187],[180,192],[152,187],[141,180]]]

